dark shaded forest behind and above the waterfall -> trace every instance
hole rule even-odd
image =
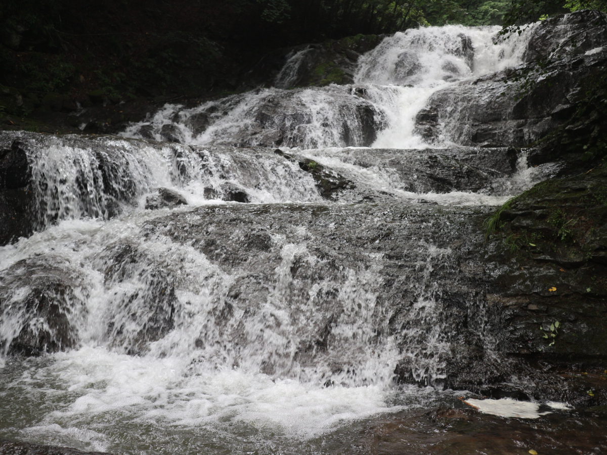
[[[219,96],[268,52],[418,25],[520,24],[607,0],[3,0],[0,115]]]

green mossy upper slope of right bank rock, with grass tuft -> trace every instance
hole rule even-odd
[[[606,177],[599,166],[537,184],[485,220],[486,237],[501,239],[503,248],[522,261],[586,263],[607,246]]]

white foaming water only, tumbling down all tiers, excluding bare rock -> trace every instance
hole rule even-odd
[[[286,152],[300,153],[339,170],[358,187],[389,192],[397,200],[501,204],[537,178],[524,158],[514,176],[504,175],[485,192],[438,194],[406,190],[389,162],[364,166],[349,156],[351,149],[326,148],[347,145],[346,133],[354,144],[362,144],[361,106],[375,109],[376,123],[381,124],[374,147],[428,147],[416,135],[414,120],[433,92],[520,63],[526,35],[490,44],[496,32],[452,26],[397,33],[361,58],[354,86],[264,89],[193,109],[168,105],[124,132],[138,137],[141,127],[149,126],[152,138],[162,140],[161,130],[171,126],[182,143],[208,149],[147,147],[116,139],[100,139],[99,147],[87,149],[78,141],[53,138],[32,148],[38,153],[30,158],[39,182],[40,225],[46,229],[0,248],[0,291],[9,302],[0,315],[0,337],[8,349],[18,336],[27,314],[18,306],[33,286],[27,267],[38,258],[78,277],[70,318],[80,321],[75,334],[79,347],[32,360],[31,368],[13,377],[9,392],[27,396],[35,390],[39,400],[50,403],[15,433],[97,450],[120,450],[123,426],[137,434],[142,428],[151,434],[164,434],[158,428],[169,433],[186,428],[194,434],[204,429],[211,434],[204,433],[209,440],[232,439],[235,428],[245,435],[260,434],[257,439],[251,436],[257,443],[276,436],[307,440],[336,431],[345,422],[402,409],[395,406],[393,382],[402,357],[421,359],[412,371],[416,380],[439,382],[444,368],[440,357],[449,345],[441,327],[432,326],[441,311],[432,271],[437,261],[448,261],[449,249],[419,245],[418,255],[426,260],[413,265],[415,276],[410,277],[415,296],[409,310],[412,323],[402,333],[377,341],[376,334],[389,332],[391,316],[375,292],[384,285],[381,254],[365,267],[344,267],[337,276],[316,277],[307,293],[299,295],[291,269],[301,262],[320,269],[327,260],[311,252],[316,239],[303,228],[274,235],[270,248],[279,263],[270,270],[271,280],[254,288],[260,274],[256,268],[267,268],[255,262],[258,258],[251,258],[251,269],[225,269],[194,244],[146,228],[157,217],[191,207],[157,212],[143,207],[146,196],[158,187],[178,191],[192,206],[217,204],[204,190],[222,195],[226,183],[245,190],[253,203],[318,203],[322,199],[314,181],[297,160],[267,150],[210,147],[263,143],[263,135],[273,130],[307,149]],[[462,33],[470,38],[472,59],[459,53]],[[277,85],[294,77],[296,63],[285,66]],[[356,95],[361,87],[362,97]],[[273,104],[280,107],[282,120],[266,119],[260,127],[259,118]],[[297,117],[302,113],[303,123]],[[201,115],[208,122],[203,129],[195,127]],[[103,162],[112,163],[109,185],[104,184],[104,177],[108,179],[101,171]],[[132,261],[116,259],[124,245],[135,251]],[[16,266],[19,261],[25,265]],[[7,288],[10,280],[21,284]],[[240,282],[245,283],[242,292],[252,297],[265,292],[265,297],[235,304],[230,300],[232,286]],[[326,323],[327,314],[320,308],[327,296],[338,305],[330,323],[330,346],[324,352],[314,348],[308,359],[297,357],[300,346],[314,340]],[[141,328],[153,324],[155,306],[173,312],[174,323],[160,338],[142,342]],[[39,321],[26,323],[35,326]],[[409,340],[409,350],[402,352],[397,336]],[[412,388],[399,393],[426,392]],[[154,439],[140,439],[148,437]]]

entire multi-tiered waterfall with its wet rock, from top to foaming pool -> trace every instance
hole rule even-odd
[[[443,289],[478,300],[456,263],[438,264],[482,237],[464,218],[549,172],[524,157],[509,168],[507,149],[416,150],[433,92],[520,62],[527,35],[494,45],[497,31],[397,33],[362,56],[353,85],[168,105],[124,139],[2,136],[27,152],[38,231],[0,247],[0,393],[22,423],[0,430],[129,453],[266,440],[293,453],[293,437],[431,396],[397,387],[396,368],[440,385]],[[384,150],[339,148],[371,145]],[[146,209],[158,188],[187,204]],[[36,343],[63,352],[10,357]],[[32,389],[48,404],[25,416]]]

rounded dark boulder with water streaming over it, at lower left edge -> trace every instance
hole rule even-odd
[[[5,353],[39,356],[78,344],[84,301],[77,277],[65,260],[53,256],[18,261],[3,271],[0,320],[13,327],[0,340]]]

